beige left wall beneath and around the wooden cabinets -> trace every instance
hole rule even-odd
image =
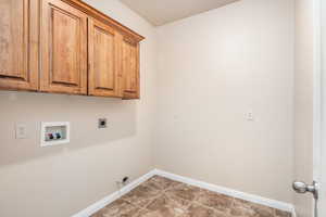
[[[152,169],[154,29],[117,0],[87,2],[147,37],[141,101],[1,91],[1,217],[68,217],[115,191],[124,176]],[[108,117],[108,129],[97,129],[99,117]],[[42,120],[71,122],[72,142],[40,148]],[[14,139],[15,123],[27,125],[28,139]]]

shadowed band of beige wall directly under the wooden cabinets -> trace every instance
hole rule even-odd
[[[108,128],[98,129],[98,118]],[[137,101],[30,92],[0,92],[0,167],[64,150],[115,145],[137,133]],[[41,122],[71,122],[71,143],[40,146]],[[15,124],[27,126],[27,138],[15,139]]]

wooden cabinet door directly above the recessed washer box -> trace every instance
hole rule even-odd
[[[87,15],[60,0],[41,2],[40,89],[86,94]]]

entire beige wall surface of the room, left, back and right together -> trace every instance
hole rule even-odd
[[[294,197],[310,217],[311,197],[290,189],[312,179],[312,5],[296,1],[294,62],[294,0],[241,0],[156,29],[117,0],[86,0],[147,37],[141,101],[0,92],[0,216],[71,216],[158,167]],[[40,148],[43,120],[71,122],[72,142]]]

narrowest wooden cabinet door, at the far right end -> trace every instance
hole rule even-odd
[[[122,40],[123,98],[139,99],[139,43]]]

